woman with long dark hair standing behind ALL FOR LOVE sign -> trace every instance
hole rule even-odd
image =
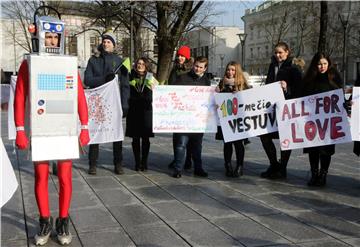
[[[308,96],[341,88],[342,80],[339,72],[332,66],[330,58],[323,53],[316,53],[304,77],[304,86],[304,95]],[[304,152],[309,154],[311,167],[308,185],[324,186],[331,155],[335,153],[335,145],[305,148]]]

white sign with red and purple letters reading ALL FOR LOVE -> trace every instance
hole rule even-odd
[[[282,150],[351,141],[342,89],[276,103]]]

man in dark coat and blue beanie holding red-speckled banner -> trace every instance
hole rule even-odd
[[[99,87],[115,78],[118,75],[120,83],[121,106],[123,117],[129,109],[128,99],[130,95],[129,73],[123,60],[114,54],[116,45],[115,36],[112,32],[102,35],[102,44],[99,46],[100,54],[93,55],[85,70],[84,83],[89,88]],[[119,68],[119,69],[118,69]],[[116,174],[123,174],[122,169],[122,141],[113,142],[114,166]],[[99,144],[91,144],[89,148],[89,174],[96,174],[96,162],[99,156]]]

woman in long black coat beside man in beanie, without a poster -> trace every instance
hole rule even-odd
[[[157,80],[151,73],[147,58],[136,60],[130,74],[129,112],[126,118],[125,135],[132,137],[132,149],[135,158],[135,171],[147,170],[147,158],[150,151],[152,131],[152,88]],[[140,138],[141,158],[140,158]]]

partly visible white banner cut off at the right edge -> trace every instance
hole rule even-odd
[[[360,87],[353,87],[350,123],[352,140],[360,141]]]

